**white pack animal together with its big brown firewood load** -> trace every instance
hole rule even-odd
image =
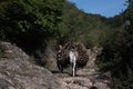
[[[72,67],[72,76],[76,75],[76,68],[84,67],[89,60],[89,56],[80,44],[66,43],[63,47],[59,46],[57,55],[57,65],[61,72],[69,65]]]

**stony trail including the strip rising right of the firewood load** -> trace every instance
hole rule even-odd
[[[91,52],[88,66],[83,69],[79,69],[76,77],[71,77],[71,68],[68,68],[64,73],[53,71],[54,76],[62,83],[61,89],[90,89],[92,86],[95,86],[98,89],[110,89],[106,85],[109,77],[100,75],[94,63],[95,59],[96,53]]]

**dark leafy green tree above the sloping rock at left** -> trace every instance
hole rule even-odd
[[[63,1],[7,1],[0,8],[0,39],[16,42],[29,53],[44,49],[45,42],[60,32]]]

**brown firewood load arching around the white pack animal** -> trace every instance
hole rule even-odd
[[[69,51],[71,49],[75,49],[78,51],[78,61],[76,61],[78,68],[85,67],[89,61],[89,55],[86,53],[86,50],[85,48],[83,48],[82,44],[65,43],[64,46],[62,46],[61,60],[68,61]]]

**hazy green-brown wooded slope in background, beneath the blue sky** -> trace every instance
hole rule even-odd
[[[102,19],[108,19],[99,14],[84,13],[74,3],[65,2],[64,7],[66,7],[63,17],[65,33],[60,39],[64,42],[65,40],[82,42],[89,48],[99,46],[111,29],[102,21]]]

